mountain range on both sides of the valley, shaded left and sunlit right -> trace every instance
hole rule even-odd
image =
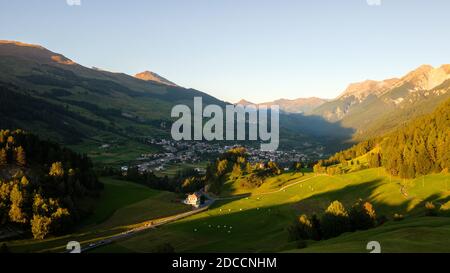
[[[421,66],[398,79],[351,84],[334,100],[313,97],[264,104],[278,104],[283,110],[281,148],[338,150],[433,111],[450,94],[449,71],[449,65]],[[131,76],[91,69],[39,45],[0,41],[0,128],[24,128],[91,148],[142,137],[167,138],[172,107],[192,106],[196,96],[204,104],[227,104],[154,72]]]

